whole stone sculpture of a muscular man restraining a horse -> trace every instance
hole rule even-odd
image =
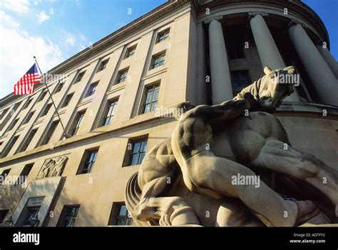
[[[282,124],[271,114],[294,91],[292,84],[280,79],[295,69],[266,66],[264,72],[230,101],[178,105],[183,114],[177,117],[173,136],[150,149],[128,181],[126,206],[136,225],[337,222],[338,171],[293,149]],[[262,181],[260,187],[237,185],[233,183],[237,176],[262,176]],[[206,204],[217,211],[211,223],[203,210]]]

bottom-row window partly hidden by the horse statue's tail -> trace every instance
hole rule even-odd
[[[131,226],[133,218],[125,204],[113,204],[108,226]]]

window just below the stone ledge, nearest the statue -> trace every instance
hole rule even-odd
[[[147,149],[147,138],[135,139],[129,142],[128,148],[128,165],[133,166],[141,164],[145,156],[145,150]]]

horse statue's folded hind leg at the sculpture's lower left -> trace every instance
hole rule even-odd
[[[160,196],[165,186],[168,186],[166,177],[153,179],[143,186],[140,202],[134,209],[136,218],[140,221],[158,220],[160,226],[199,226],[194,209],[181,197]]]

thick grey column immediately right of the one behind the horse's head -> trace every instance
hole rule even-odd
[[[290,39],[295,46],[304,68],[307,70],[314,88],[325,104],[338,106],[338,81],[336,76],[313,44],[302,25],[290,26]]]

